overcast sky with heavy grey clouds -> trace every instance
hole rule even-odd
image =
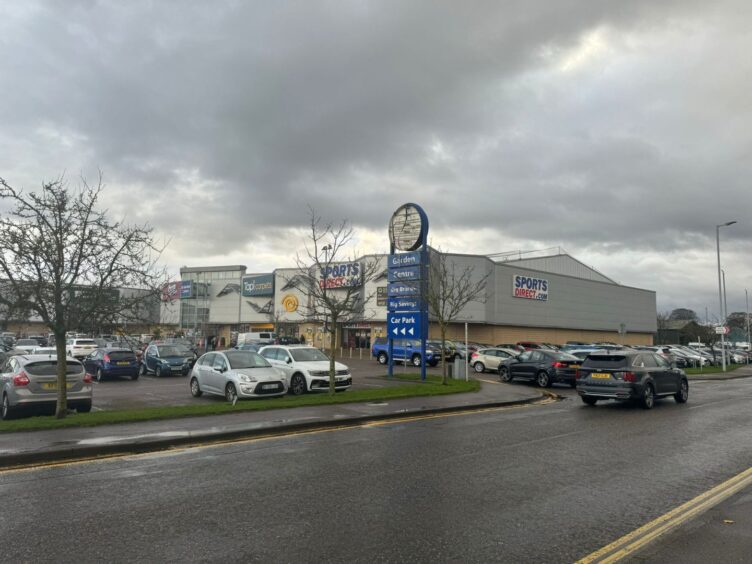
[[[752,291],[748,0],[0,0],[0,176],[101,169],[165,261],[293,266],[307,205],[363,252],[562,247],[658,309]]]

